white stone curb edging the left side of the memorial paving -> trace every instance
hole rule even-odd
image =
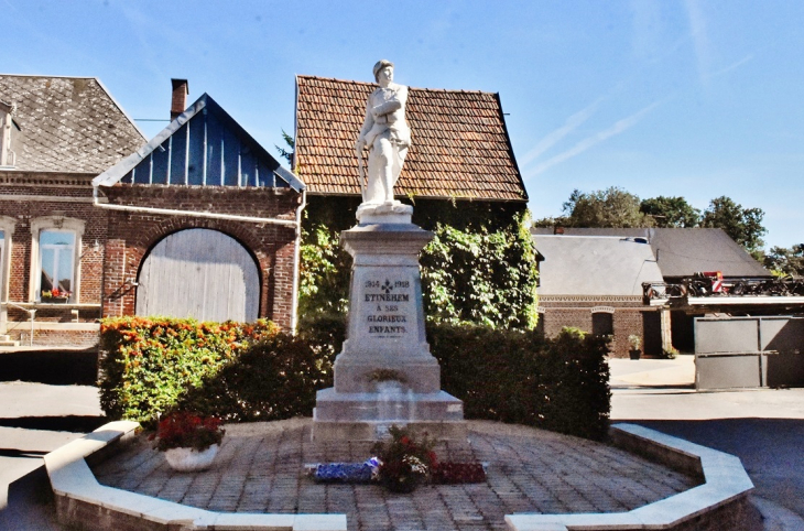
[[[171,524],[188,531],[346,531],[346,514],[213,512],[100,485],[84,458],[139,426],[137,422],[111,422],[45,455],[53,492],[165,529]]]

